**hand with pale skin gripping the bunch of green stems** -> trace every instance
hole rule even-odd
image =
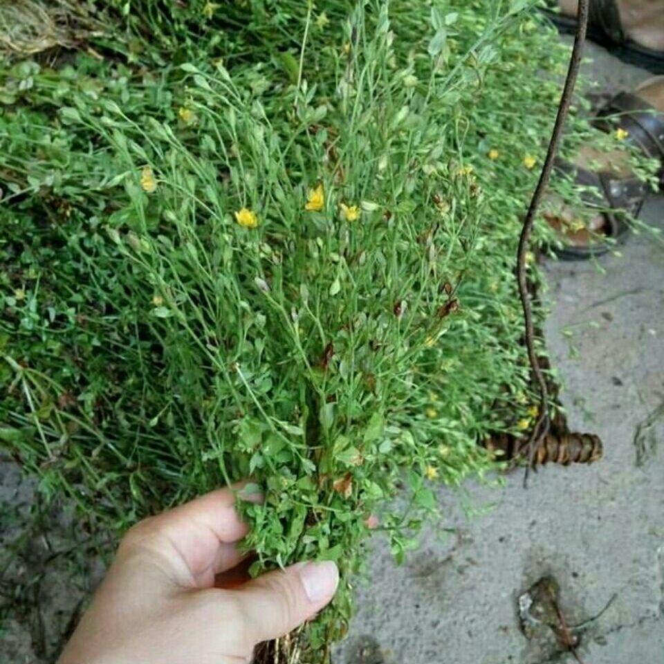
[[[236,487],[237,489],[238,487]],[[297,563],[232,590],[248,526],[234,492],[213,491],[131,528],[58,664],[239,664],[333,597],[333,562]]]

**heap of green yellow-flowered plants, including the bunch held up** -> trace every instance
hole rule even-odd
[[[324,658],[369,517],[400,559],[532,417],[515,250],[568,51],[525,1],[172,4],[1,65],[0,442],[118,531],[251,477],[253,573],[340,564]]]

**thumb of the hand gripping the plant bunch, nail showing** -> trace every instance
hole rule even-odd
[[[237,592],[245,638],[252,645],[288,634],[333,598],[339,571],[331,562],[299,562],[268,572]]]

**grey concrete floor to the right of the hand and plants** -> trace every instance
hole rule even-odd
[[[589,46],[600,89],[648,76]],[[664,198],[648,201],[642,218],[664,228]],[[504,490],[472,488],[477,506],[494,506],[474,519],[441,490],[450,514],[443,525],[456,535],[430,533],[400,568],[376,547],[338,664],[573,662],[546,625],[531,639],[519,627],[519,596],[545,575],[560,586],[566,624],[590,621],[575,632],[580,661],[664,664],[664,444],[656,448],[664,436],[664,243],[632,235],[622,253],[546,264],[555,303],[546,336],[562,400],[572,430],[601,436],[604,459],[548,466],[528,490],[521,472]],[[560,627],[559,616],[548,622]]]

